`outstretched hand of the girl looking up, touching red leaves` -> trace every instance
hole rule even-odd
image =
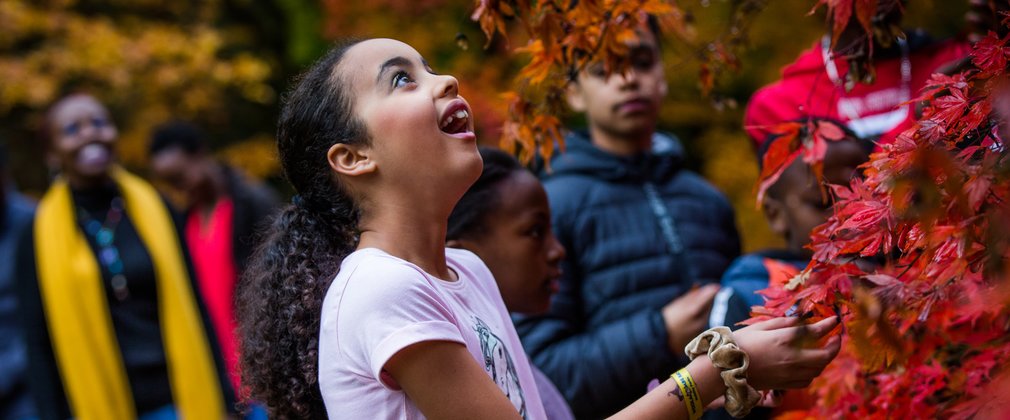
[[[838,317],[802,325],[799,318],[775,318],[733,332],[750,357],[747,383],[758,390],[805,388],[838,354],[841,337],[822,342]]]

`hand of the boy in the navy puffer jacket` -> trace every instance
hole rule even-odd
[[[684,347],[708,327],[712,301],[719,292],[719,285],[693,289],[663,307],[663,322],[670,337],[670,350],[683,354]]]

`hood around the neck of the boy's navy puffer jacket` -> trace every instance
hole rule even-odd
[[[655,133],[652,149],[633,156],[619,156],[594,146],[585,131],[565,137],[566,149],[556,151],[549,175],[587,175],[609,182],[662,183],[684,166],[684,146],[671,135]]]

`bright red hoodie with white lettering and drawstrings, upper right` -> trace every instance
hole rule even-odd
[[[903,0],[878,2],[875,25],[897,28]],[[830,24],[829,24],[830,27]],[[842,121],[862,138],[891,142],[912,126],[918,96],[930,75],[952,68],[968,57],[967,41],[936,40],[922,30],[905,33],[890,44],[875,37],[872,83],[848,78],[848,59],[867,54],[866,31],[853,17],[831,48],[831,34],[800,54],[782,71],[782,79],[758,90],[747,103],[743,125],[758,143],[769,127],[804,115]],[[854,82],[850,79],[856,79]],[[794,98],[783,101],[781,98]]]

